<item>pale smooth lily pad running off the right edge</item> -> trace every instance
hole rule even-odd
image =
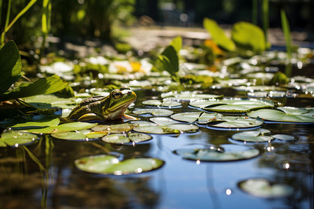
[[[286,114],[278,109],[259,109],[247,113],[252,118],[263,118],[267,121],[291,122],[291,123],[314,123],[313,116],[302,114]]]

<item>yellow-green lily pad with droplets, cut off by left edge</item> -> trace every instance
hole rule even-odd
[[[20,146],[24,144],[32,144],[39,139],[36,134],[31,134],[27,132],[20,132],[16,130],[5,131],[1,134],[1,141],[3,141],[8,146]]]

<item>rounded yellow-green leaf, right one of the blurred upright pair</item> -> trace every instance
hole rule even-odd
[[[249,22],[237,22],[232,27],[232,40],[238,47],[253,52],[263,52],[266,49],[265,36],[260,27]]]

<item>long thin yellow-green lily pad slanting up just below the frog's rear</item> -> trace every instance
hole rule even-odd
[[[75,130],[84,130],[90,129],[91,127],[96,126],[97,123],[84,123],[84,122],[73,122],[73,123],[64,123],[57,126],[50,126],[38,129],[28,129],[27,132],[39,133],[39,134],[52,134],[57,132],[70,132]]]

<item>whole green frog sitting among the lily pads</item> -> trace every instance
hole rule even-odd
[[[136,100],[136,94],[128,86],[114,89],[106,97],[98,95],[83,100],[67,119],[75,121],[108,121],[124,116],[126,108]]]

